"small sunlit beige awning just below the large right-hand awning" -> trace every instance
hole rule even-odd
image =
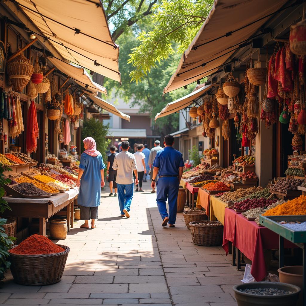
[[[176,113],[179,110],[182,110],[183,108],[189,106],[192,104],[194,99],[201,97],[207,90],[212,88],[215,85],[205,85],[203,87],[200,87],[196,91],[192,91],[190,94],[185,95],[184,97],[181,97],[180,99],[177,99],[171,103],[168,103],[160,113],[156,114],[155,121],[158,118],[168,116],[170,114]],[[218,85],[217,85],[218,86]]]

